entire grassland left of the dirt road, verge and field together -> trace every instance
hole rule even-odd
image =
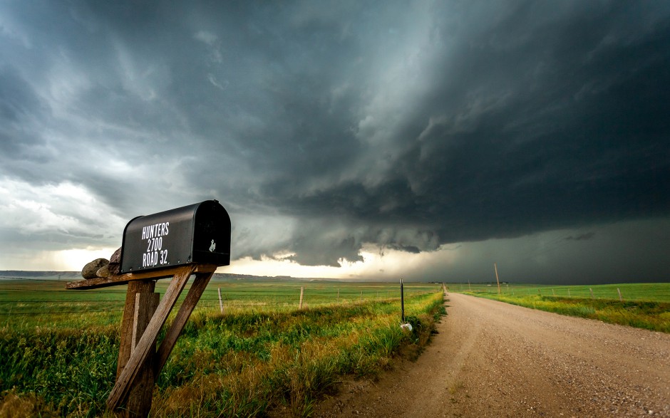
[[[167,284],[159,281],[157,291]],[[108,414],[125,286],[64,286],[0,281],[0,411],[12,417]],[[212,281],[158,377],[151,416],[309,416],[344,376],[376,375],[399,351],[427,343],[443,313],[441,286],[406,283],[412,332],[399,327],[399,290],[399,283]]]

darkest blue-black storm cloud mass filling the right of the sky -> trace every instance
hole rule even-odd
[[[292,209],[429,226],[442,243],[667,214],[667,16],[575,6],[538,25],[536,9],[438,56],[433,90],[388,138],[381,182],[295,195]],[[638,30],[619,31],[631,13]]]

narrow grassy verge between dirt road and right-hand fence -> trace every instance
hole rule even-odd
[[[469,293],[482,298],[512,303],[561,315],[602,320],[606,323],[670,333],[670,303],[619,301],[612,299],[563,298],[558,296],[512,296],[496,293]]]

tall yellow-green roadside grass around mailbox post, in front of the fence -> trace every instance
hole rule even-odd
[[[152,417],[309,416],[344,375],[374,376],[401,348],[425,345],[442,293],[304,310],[197,310],[158,377]],[[0,328],[0,417],[105,414],[118,326]]]

